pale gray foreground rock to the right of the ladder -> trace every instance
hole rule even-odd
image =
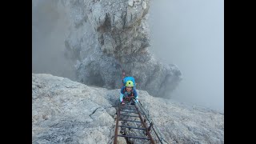
[[[153,98],[146,91],[140,94],[142,106],[149,111],[168,143],[224,143],[224,114]]]

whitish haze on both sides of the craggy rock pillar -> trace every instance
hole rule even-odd
[[[32,4],[32,72],[75,80],[74,62],[64,57],[70,11],[57,10],[53,0]],[[171,97],[223,111],[223,0],[151,0],[149,12],[150,49],[182,71],[183,80]]]

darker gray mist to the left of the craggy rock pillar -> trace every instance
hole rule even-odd
[[[74,62],[65,57],[68,10],[57,1],[32,1],[32,72],[75,80]]]

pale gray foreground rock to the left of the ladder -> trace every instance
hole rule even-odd
[[[32,74],[32,142],[110,143],[117,94],[109,92],[50,74]]]

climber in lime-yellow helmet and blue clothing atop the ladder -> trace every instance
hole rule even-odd
[[[122,86],[121,93],[120,93],[120,102],[121,104],[125,104],[123,102],[123,98],[134,98],[135,102],[138,102],[138,95],[137,91],[134,88],[134,82],[133,81],[127,81],[125,86]],[[132,103],[134,104],[134,103]]]

